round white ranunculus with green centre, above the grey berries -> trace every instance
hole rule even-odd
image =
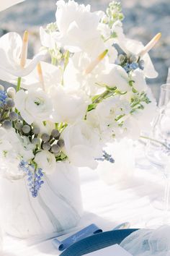
[[[14,98],[15,106],[27,124],[34,121],[48,121],[53,105],[48,95],[40,90],[19,90]]]

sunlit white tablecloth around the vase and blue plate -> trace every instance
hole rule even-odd
[[[141,157],[138,158],[140,163]],[[122,159],[123,161],[123,159]],[[141,167],[141,166],[140,166]],[[97,174],[88,168],[80,170],[84,216],[75,231],[95,223],[103,231],[109,231],[125,221],[130,228],[144,228],[153,216],[160,216],[151,202],[164,195],[164,179],[159,171],[151,169],[149,163],[145,168],[135,168],[133,176],[122,177],[120,182],[107,185]],[[60,239],[66,238],[61,236]],[[4,252],[1,256],[49,256],[60,255],[52,241],[21,241],[10,236],[4,237]]]

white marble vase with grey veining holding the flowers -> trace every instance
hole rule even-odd
[[[82,213],[78,169],[59,163],[53,174],[44,176],[44,182],[34,198],[27,177],[0,179],[1,221],[7,234],[53,236],[77,225]]]

